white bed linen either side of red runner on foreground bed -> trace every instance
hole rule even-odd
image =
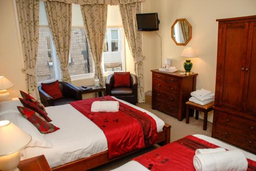
[[[218,139],[215,139],[215,138],[211,138],[211,137],[208,137],[208,136],[205,136],[205,135],[199,135],[199,134],[196,134],[196,135],[193,135],[195,137],[198,137],[200,139],[203,139],[205,141],[208,141],[210,143],[213,143],[215,145],[218,145],[218,146],[221,146],[222,148],[225,148],[227,150],[236,150],[238,148],[236,148],[235,146],[232,146],[232,145],[229,145],[227,143],[224,143]],[[245,155],[246,158],[248,159],[251,159],[251,160],[254,160],[256,161],[256,155],[253,155],[251,153],[248,153],[246,151],[243,151],[243,154]],[[142,164],[140,164],[139,162],[137,161],[130,161],[130,162],[127,162],[126,164],[112,170],[112,171],[149,171],[146,167],[144,167]]]

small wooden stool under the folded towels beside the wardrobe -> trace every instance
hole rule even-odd
[[[189,109],[196,110],[196,119],[199,117],[199,111],[204,112],[204,126],[203,130],[207,129],[207,114],[209,111],[212,111],[212,106],[214,106],[214,102],[208,103],[204,106],[198,105],[196,103],[187,101],[186,102],[186,124],[189,123]]]

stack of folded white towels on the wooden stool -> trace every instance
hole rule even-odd
[[[189,98],[190,102],[194,102],[199,105],[206,105],[208,103],[214,102],[215,94],[209,90],[201,89],[196,90],[190,93],[191,97]]]

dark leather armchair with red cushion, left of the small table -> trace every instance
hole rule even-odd
[[[55,81],[38,86],[41,103],[45,106],[58,106],[82,100],[82,92],[70,83]]]

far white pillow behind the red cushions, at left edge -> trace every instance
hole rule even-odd
[[[0,115],[12,111],[18,111],[17,106],[23,106],[19,100],[0,102]]]

